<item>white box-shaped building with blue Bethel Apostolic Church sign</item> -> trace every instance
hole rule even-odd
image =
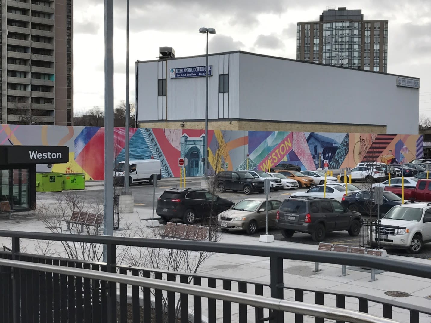
[[[172,56],[136,62],[137,121],[202,129],[206,56]],[[242,51],[209,72],[210,129],[418,134],[418,78]]]

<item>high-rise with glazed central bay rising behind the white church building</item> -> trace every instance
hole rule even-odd
[[[387,20],[364,20],[362,10],[322,12],[297,23],[297,59],[387,73]]]

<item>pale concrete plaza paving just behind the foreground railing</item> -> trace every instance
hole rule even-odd
[[[44,200],[46,205],[53,205],[56,201]],[[41,201],[38,201],[41,203]],[[151,234],[150,228],[146,227],[146,221],[142,219],[150,219],[152,210],[150,208],[135,207],[135,212],[130,214],[120,214],[121,222],[120,228],[128,227],[130,233],[139,231],[142,233]],[[50,230],[33,215],[26,217],[16,217],[12,220],[0,220],[2,230],[17,230],[17,231],[33,231],[45,232]],[[63,225],[63,230],[66,225]],[[124,231],[123,231],[124,232]],[[68,233],[65,233],[68,234]],[[122,234],[122,231],[115,233],[116,235]],[[153,233],[154,234],[154,233]],[[219,242],[244,244],[244,245],[262,245],[259,242],[259,237],[251,237],[242,233],[221,233],[219,232]],[[311,238],[310,238],[311,239]],[[9,246],[10,239],[0,238],[2,245]],[[34,252],[37,247],[37,242],[26,240],[26,251]],[[295,248],[299,250],[317,250],[316,245],[306,245],[296,242],[287,242],[276,240],[275,242],[264,244],[273,248]],[[61,249],[59,243],[54,244],[55,247]],[[417,263],[428,264],[431,266],[431,260],[402,257],[390,255],[390,259],[402,260],[412,264],[412,273],[414,273],[414,266]],[[381,298],[400,301],[406,304],[422,306],[426,308],[431,307],[431,299],[426,298],[431,295],[431,280],[418,278],[414,276],[401,275],[397,273],[383,272],[376,275],[378,280],[369,282],[371,275],[369,272],[351,270],[347,267],[347,276],[340,277],[341,266],[332,264],[320,264],[322,271],[313,273],[314,262],[312,261],[294,261],[284,260],[284,283],[287,286],[300,286],[309,289],[327,289],[340,291],[340,292],[356,292],[365,295],[373,295]],[[229,255],[229,254],[214,254],[197,270],[198,273],[205,275],[214,275],[222,278],[233,278],[241,280],[250,280],[254,282],[269,283],[270,277],[270,263],[269,258],[263,257],[250,257],[242,255]],[[218,288],[222,288],[222,281],[218,280]],[[232,283],[232,290],[238,291],[236,283]],[[250,293],[254,292],[253,285],[249,284],[248,289]],[[397,291],[406,292],[408,297],[397,298],[388,296],[385,292]],[[264,289],[264,294],[269,296],[269,288]],[[294,300],[294,292],[286,289],[284,298],[287,300]],[[192,299],[192,298],[191,298]],[[314,304],[315,295],[312,292],[304,294],[304,302]],[[193,304],[192,302],[190,304]],[[335,306],[335,296],[325,295],[325,305]],[[202,302],[203,314],[207,312],[207,302]],[[247,307],[250,311],[250,317],[254,313],[254,308]],[[358,311],[358,301],[355,298],[346,298],[346,308]],[[222,317],[222,307],[217,309],[217,317]],[[232,322],[238,321],[238,307],[237,304],[232,304]],[[378,316],[382,315],[382,306],[380,304],[369,303],[369,313]],[[205,315],[205,314],[204,314]],[[393,317],[399,322],[410,322],[408,311],[399,308],[393,308]],[[293,319],[293,314],[286,314],[285,321],[290,322]],[[251,320],[250,320],[251,321]],[[314,318],[304,317],[304,322],[314,322]],[[431,315],[420,314],[420,322],[431,322]]]

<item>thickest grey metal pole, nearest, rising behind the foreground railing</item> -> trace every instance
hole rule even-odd
[[[105,6],[105,190],[103,235],[113,235],[114,221],[114,1]],[[106,261],[106,245],[103,258]]]

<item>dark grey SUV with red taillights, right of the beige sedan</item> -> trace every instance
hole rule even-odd
[[[310,233],[314,241],[322,241],[329,231],[347,230],[350,236],[357,236],[360,220],[360,213],[349,211],[333,199],[297,197],[281,203],[275,224],[285,238],[303,232]]]

